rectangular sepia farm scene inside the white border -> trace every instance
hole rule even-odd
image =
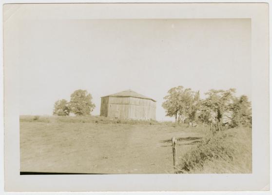
[[[251,173],[251,20],[23,20],[20,174]]]

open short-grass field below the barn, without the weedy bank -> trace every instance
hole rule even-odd
[[[188,154],[194,154],[201,144],[207,142],[208,137],[214,137],[208,127],[202,126],[175,127],[172,123],[105,117],[21,116],[20,171],[91,174],[174,173],[171,143],[174,136],[179,140],[176,152],[180,164],[184,160],[192,160]],[[218,160],[211,157],[209,161],[203,160],[200,166],[213,162],[213,159]],[[247,160],[251,163],[251,156]],[[197,168],[197,164],[199,163],[194,162],[195,170],[190,167],[190,171],[183,171],[203,171],[204,169]]]

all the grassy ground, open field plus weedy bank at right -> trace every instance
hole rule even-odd
[[[251,129],[212,135],[209,126],[99,116],[20,116],[20,167],[33,172],[174,173],[174,136],[180,173],[252,172]]]

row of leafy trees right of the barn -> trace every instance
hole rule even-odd
[[[199,91],[177,86],[168,91],[162,107],[166,116],[175,117],[175,123],[202,123],[222,126],[251,126],[252,108],[248,97],[235,96],[235,89],[209,90],[201,99]]]

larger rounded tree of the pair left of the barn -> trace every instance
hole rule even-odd
[[[69,108],[76,116],[90,115],[95,107],[92,95],[88,94],[86,90],[79,89],[71,95]]]

